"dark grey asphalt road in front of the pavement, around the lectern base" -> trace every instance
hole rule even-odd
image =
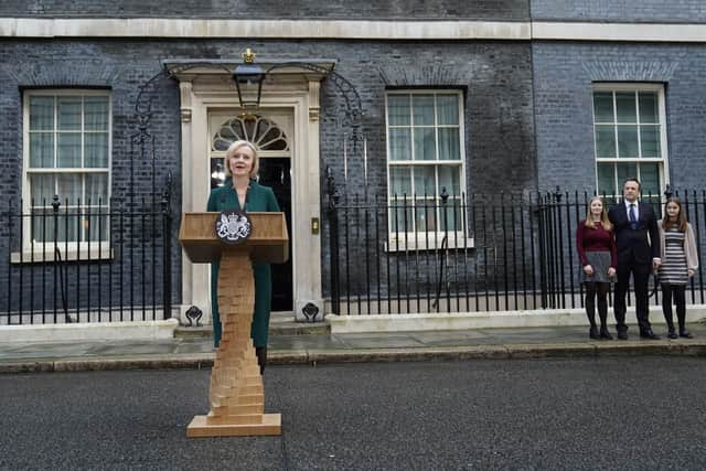
[[[188,439],[210,371],[0,375],[0,468],[706,469],[706,361],[271,367],[281,437]]]

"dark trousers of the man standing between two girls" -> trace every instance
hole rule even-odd
[[[645,332],[650,327],[650,311],[648,309],[648,281],[650,279],[651,264],[639,264],[634,259],[618,260],[618,282],[616,283],[616,299],[613,311],[616,313],[616,328],[618,332],[625,332],[625,295],[630,285],[630,274],[635,288],[635,312],[640,332]]]

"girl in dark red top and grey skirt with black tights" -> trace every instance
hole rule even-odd
[[[586,286],[586,314],[591,324],[588,335],[591,339],[612,339],[607,324],[608,288],[616,278],[618,253],[613,227],[608,220],[606,205],[599,196],[593,196],[588,202],[586,220],[578,224],[576,249],[581,260],[581,281]],[[596,297],[600,334],[596,328]]]

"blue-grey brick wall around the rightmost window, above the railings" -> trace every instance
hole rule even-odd
[[[706,49],[700,45],[533,44],[538,181],[592,191],[592,84],[660,83],[666,96],[670,181],[699,189],[706,174]]]

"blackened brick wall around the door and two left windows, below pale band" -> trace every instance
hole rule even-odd
[[[252,46],[259,57],[333,57],[336,71],[357,88],[368,139],[372,193],[386,194],[385,90],[387,87],[457,87],[466,92],[468,192],[536,188],[533,150],[531,47],[510,42],[340,42],[340,41],[7,41],[0,49],[0,197],[18,199],[22,175],[21,89],[24,87],[109,87],[113,94],[113,195],[129,201],[152,193],[151,165],[130,154],[135,100],[139,87],[160,72],[165,58],[236,58],[234,51]],[[160,78],[151,88],[156,138],[156,181],[174,175],[173,210],[181,207],[180,113],[178,84]],[[342,180],[343,103],[324,82],[321,97],[321,170],[330,165]],[[132,176],[133,175],[133,176]],[[351,156],[349,190],[362,188],[363,161]],[[188,178],[188,175],[184,175]],[[136,184],[131,185],[130,182]],[[322,185],[322,189],[324,186]],[[174,299],[180,295],[180,250],[174,221]],[[7,237],[0,253],[7,254]],[[324,243],[324,247],[327,247]],[[328,257],[325,257],[328,258]],[[325,266],[327,261],[323,260]],[[161,275],[161,274],[159,274]],[[2,280],[0,275],[0,282]],[[0,300],[1,302],[2,300]]]

